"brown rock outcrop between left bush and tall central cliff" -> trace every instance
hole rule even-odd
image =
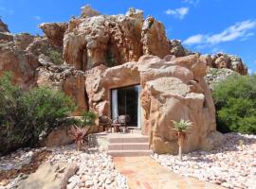
[[[75,114],[88,110],[84,73],[68,65],[55,65],[45,55],[40,55],[39,61],[42,66],[37,68],[37,86],[54,87],[71,96],[78,105]]]

